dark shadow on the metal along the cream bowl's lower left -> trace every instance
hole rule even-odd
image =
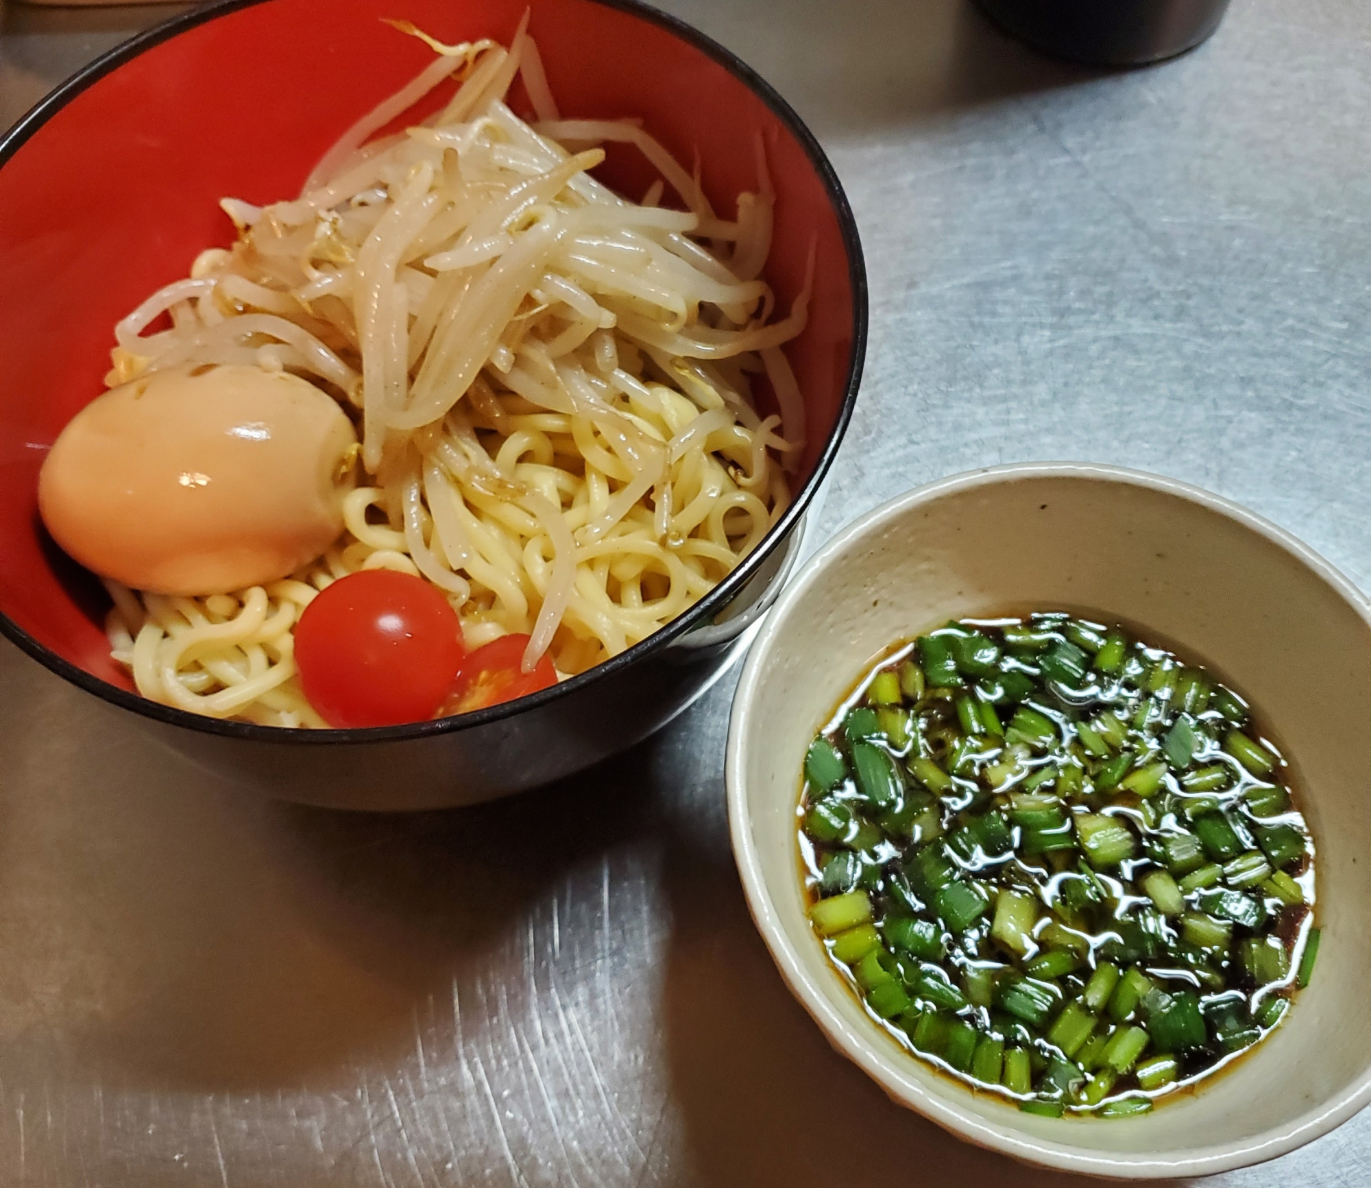
[[[670,848],[662,877],[673,930],[659,1014],[691,1183],[1100,1183],[961,1141],[893,1102],[829,1047],[786,989],[749,916],[729,852],[721,764],[714,785],[673,803],[665,816],[686,844]],[[673,816],[688,819],[690,831],[672,827]],[[1178,1188],[1179,1181],[1153,1183]]]

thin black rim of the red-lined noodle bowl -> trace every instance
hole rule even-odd
[[[12,158],[19,148],[22,148],[23,144],[40,128],[43,128],[43,125],[56,115],[56,112],[123,63],[137,58],[140,54],[155,45],[160,45],[163,41],[169,41],[180,33],[195,29],[214,21],[218,16],[236,12],[241,8],[252,8],[265,3],[269,3],[269,0],[210,0],[210,3],[199,8],[171,16],[159,25],[154,25],[143,33],[130,37],[128,41],[123,41],[108,52],[100,55],[67,78],[49,95],[44,96],[44,99],[34,104],[3,137],[0,137],[0,167],[3,167],[10,158]],[[801,517],[805,514],[814,498],[814,494],[818,491],[820,484],[828,475],[828,469],[832,465],[834,457],[836,455],[847,431],[849,421],[851,420],[853,407],[857,402],[857,390],[861,384],[868,332],[866,268],[862,258],[861,239],[857,232],[857,219],[853,215],[851,206],[847,202],[847,195],[843,191],[842,182],[838,180],[838,173],[834,170],[827,154],[820,147],[818,140],[799,118],[795,110],[780,96],[780,93],[736,54],[725,49],[712,37],[701,33],[694,26],[687,25],[676,16],[670,16],[666,12],[653,8],[650,4],[643,3],[643,0],[590,0],[590,3],[599,4],[603,8],[614,8],[628,12],[640,21],[647,21],[665,29],[668,33],[681,41],[686,41],[688,45],[692,45],[707,58],[712,58],[728,70],[729,74],[746,85],[754,95],[757,95],[758,99],[762,100],[762,103],[766,104],[772,114],[780,119],[780,122],[805,150],[810,165],[814,167],[814,171],[818,174],[818,178],[824,185],[828,202],[838,219],[838,228],[843,240],[843,250],[847,254],[847,278],[853,294],[853,343],[851,355],[847,364],[847,379],[843,387],[843,399],[838,410],[838,418],[834,423],[834,428],[828,433],[828,439],[824,442],[824,449],[820,451],[814,464],[813,473],[791,501],[780,520],[772,525],[771,531],[765,535],[765,538],[762,538],[761,543],[743,558],[732,573],[720,582],[718,586],[716,586],[709,594],[701,598],[699,602],[687,608],[670,623],[659,627],[646,639],[642,639],[632,648],[625,649],[618,656],[610,657],[609,660],[596,664],[594,668],[588,668],[585,672],[554,685],[551,689],[544,689],[540,693],[529,694],[528,697],[518,698],[517,701],[492,705],[487,709],[478,709],[472,713],[439,717],[429,722],[410,722],[400,726],[369,726],[350,730],[292,730],[281,726],[259,726],[252,722],[226,722],[218,717],[207,717],[204,715],[191,713],[185,709],[162,705],[158,701],[151,701],[137,693],[130,693],[101,680],[99,676],[95,676],[84,668],[73,664],[66,657],[59,656],[45,643],[41,643],[3,612],[0,612],[0,634],[16,643],[23,652],[45,668],[56,672],[62,678],[66,678],[77,687],[95,694],[101,701],[117,705],[121,709],[129,709],[143,717],[152,719],[154,722],[195,730],[204,734],[241,738],[252,742],[318,746],[358,742],[403,742],[417,738],[430,738],[461,730],[473,730],[491,722],[511,717],[515,713],[539,709],[550,701],[563,696],[570,696],[587,685],[609,678],[628,665],[638,663],[639,658],[659,650],[692,627],[696,627],[702,620],[713,617],[729,601],[732,601],[743,586],[746,586],[747,582],[757,573],[762,562],[772,554],[776,546],[795,531]]]

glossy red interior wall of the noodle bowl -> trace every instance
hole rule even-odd
[[[721,217],[757,188],[765,145],[776,189],[766,278],[788,309],[816,248],[805,333],[787,350],[805,394],[809,480],[842,413],[858,294],[825,177],[801,136],[740,73],[632,8],[592,0],[273,0],[210,5],[174,36],[74,93],[0,148],[0,612],[49,650],[121,687],[100,626],[104,595],[47,539],[37,473],[71,416],[103,391],[114,324],[233,240],[218,200],[299,192],[354,119],[432,59],[380,23],[400,15],[444,41],[506,44],[532,8],[566,117],[640,117],[687,167],[698,151]],[[744,77],[746,75],[746,77]],[[439,92],[441,93],[441,92]],[[515,86],[513,104],[521,110]],[[437,96],[433,97],[437,102]],[[521,114],[526,111],[521,110]],[[647,167],[616,150],[602,176],[640,195]]]

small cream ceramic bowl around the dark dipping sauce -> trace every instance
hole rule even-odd
[[[1132,620],[1212,664],[1265,712],[1307,789],[1323,929],[1311,986],[1246,1059],[1141,1118],[1034,1117],[939,1074],[869,1019],[805,916],[795,808],[814,731],[891,642],[1010,608]],[[728,735],[728,811],[749,907],[834,1047],[962,1139],[1119,1178],[1271,1159],[1371,1100],[1368,676],[1371,604],[1298,540],[1216,495],[1071,464],[920,487],[816,554],[751,649]]]

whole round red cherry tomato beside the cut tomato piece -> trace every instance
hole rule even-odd
[[[304,696],[329,726],[344,728],[432,717],[465,654],[447,599],[393,569],[340,578],[295,626]]]

